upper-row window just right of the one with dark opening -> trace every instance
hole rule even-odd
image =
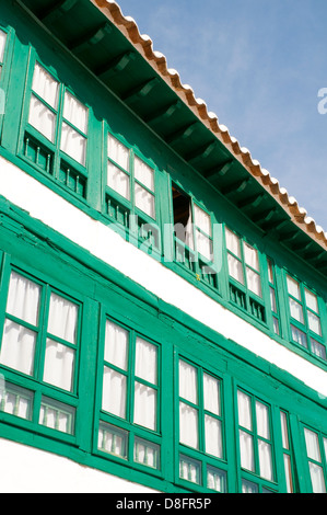
[[[258,251],[225,228],[230,299],[259,321],[266,321]]]

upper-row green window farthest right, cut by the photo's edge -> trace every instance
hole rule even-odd
[[[287,285],[292,341],[326,360],[318,297],[290,275]]]

